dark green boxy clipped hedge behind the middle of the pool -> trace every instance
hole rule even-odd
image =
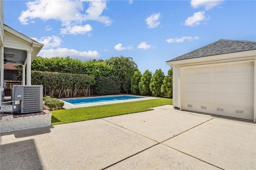
[[[98,95],[114,95],[120,92],[118,76],[100,76],[96,79],[96,93]]]

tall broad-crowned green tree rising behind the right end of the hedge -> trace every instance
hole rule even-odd
[[[116,69],[116,73],[120,79],[122,89],[128,93],[130,90],[130,79],[134,71],[138,71],[137,64],[133,61],[132,57],[111,57],[105,61]]]

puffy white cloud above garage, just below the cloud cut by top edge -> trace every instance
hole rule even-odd
[[[188,19],[185,21],[185,26],[197,26],[201,24],[202,21],[208,21],[210,17],[206,17],[204,12],[196,12],[193,16],[188,17]]]

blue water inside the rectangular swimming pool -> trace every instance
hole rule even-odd
[[[103,96],[103,97],[86,97],[76,99],[63,99],[62,101],[71,103],[73,105],[87,104],[87,103],[99,103],[107,101],[119,101],[127,99],[139,99],[144,97],[132,96],[132,95],[116,95],[116,96]]]

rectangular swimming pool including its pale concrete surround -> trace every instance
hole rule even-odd
[[[100,96],[100,97],[83,97],[73,99],[60,99],[64,101],[64,109],[72,109],[78,107],[89,107],[98,105],[108,105],[114,103],[124,103],[131,101],[142,101],[148,99],[157,99],[156,97],[140,97],[134,95],[111,95],[111,96]]]

